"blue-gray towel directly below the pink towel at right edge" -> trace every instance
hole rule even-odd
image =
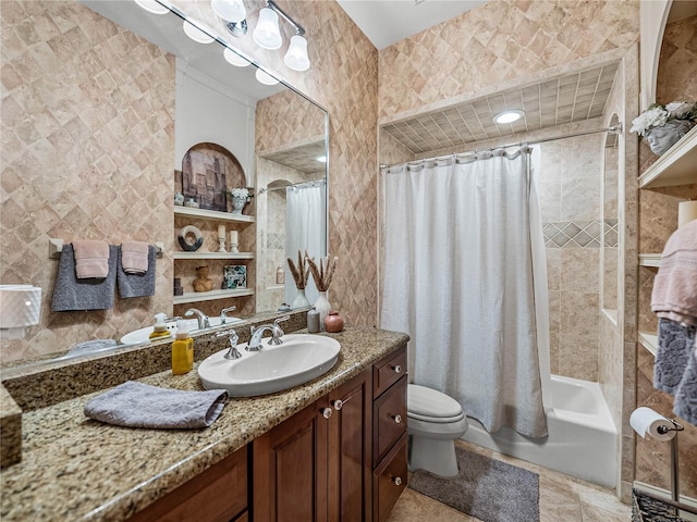
[[[683,380],[695,345],[695,326],[684,326],[670,319],[658,320],[658,350],[653,364],[653,387],[675,395]]]

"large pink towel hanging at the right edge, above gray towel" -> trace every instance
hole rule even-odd
[[[697,325],[697,220],[668,239],[653,281],[651,310],[659,318]]]

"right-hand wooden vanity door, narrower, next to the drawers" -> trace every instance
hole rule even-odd
[[[329,520],[371,517],[372,371],[367,369],[329,395]]]

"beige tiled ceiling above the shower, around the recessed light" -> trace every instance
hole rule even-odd
[[[390,123],[382,129],[415,154],[504,138],[602,115],[619,62],[498,91],[438,111]],[[500,125],[493,116],[519,109],[525,116]],[[502,144],[503,145],[503,144]]]

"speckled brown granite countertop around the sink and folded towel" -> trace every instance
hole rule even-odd
[[[83,408],[99,393],[24,412],[22,461],[0,478],[3,521],[124,520],[244,447],[360,370],[405,345],[406,334],[352,327],[331,335],[341,343],[334,368],[288,391],[232,398],[203,430],[144,430],[102,424]],[[138,381],[168,388],[203,389],[196,369]]]

